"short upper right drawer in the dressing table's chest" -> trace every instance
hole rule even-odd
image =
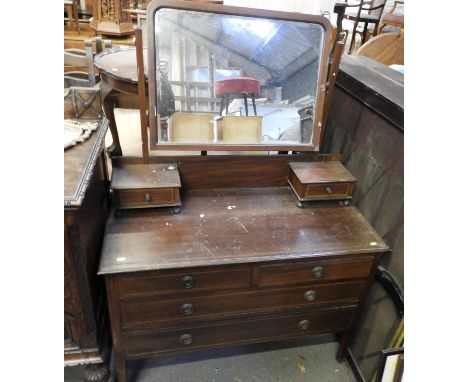
[[[259,267],[258,286],[288,285],[328,280],[366,278],[373,257],[356,260],[317,260]]]

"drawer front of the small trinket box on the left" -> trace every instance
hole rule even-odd
[[[119,201],[122,206],[160,206],[176,203],[178,198],[174,188],[119,190]]]

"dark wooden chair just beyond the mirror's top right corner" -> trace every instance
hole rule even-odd
[[[373,25],[373,36],[377,36],[377,30],[380,23],[380,18],[385,7],[387,0],[361,0],[358,4],[347,5],[346,8],[357,7],[357,13],[345,13],[344,18],[350,21],[354,21],[353,34],[351,37],[351,44],[349,46],[348,54],[351,54],[354,46],[354,40],[356,39],[356,33],[359,23],[364,23],[364,29],[362,31],[362,44],[366,42],[368,26]]]

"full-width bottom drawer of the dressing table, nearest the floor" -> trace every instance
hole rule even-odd
[[[274,315],[258,320],[224,321],[170,331],[126,334],[123,336],[124,347],[128,356],[140,357],[341,332],[350,325],[354,311],[354,308],[348,308]]]

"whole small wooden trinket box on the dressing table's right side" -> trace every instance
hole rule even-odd
[[[288,183],[301,202],[351,199],[356,181],[338,161],[289,164]]]

